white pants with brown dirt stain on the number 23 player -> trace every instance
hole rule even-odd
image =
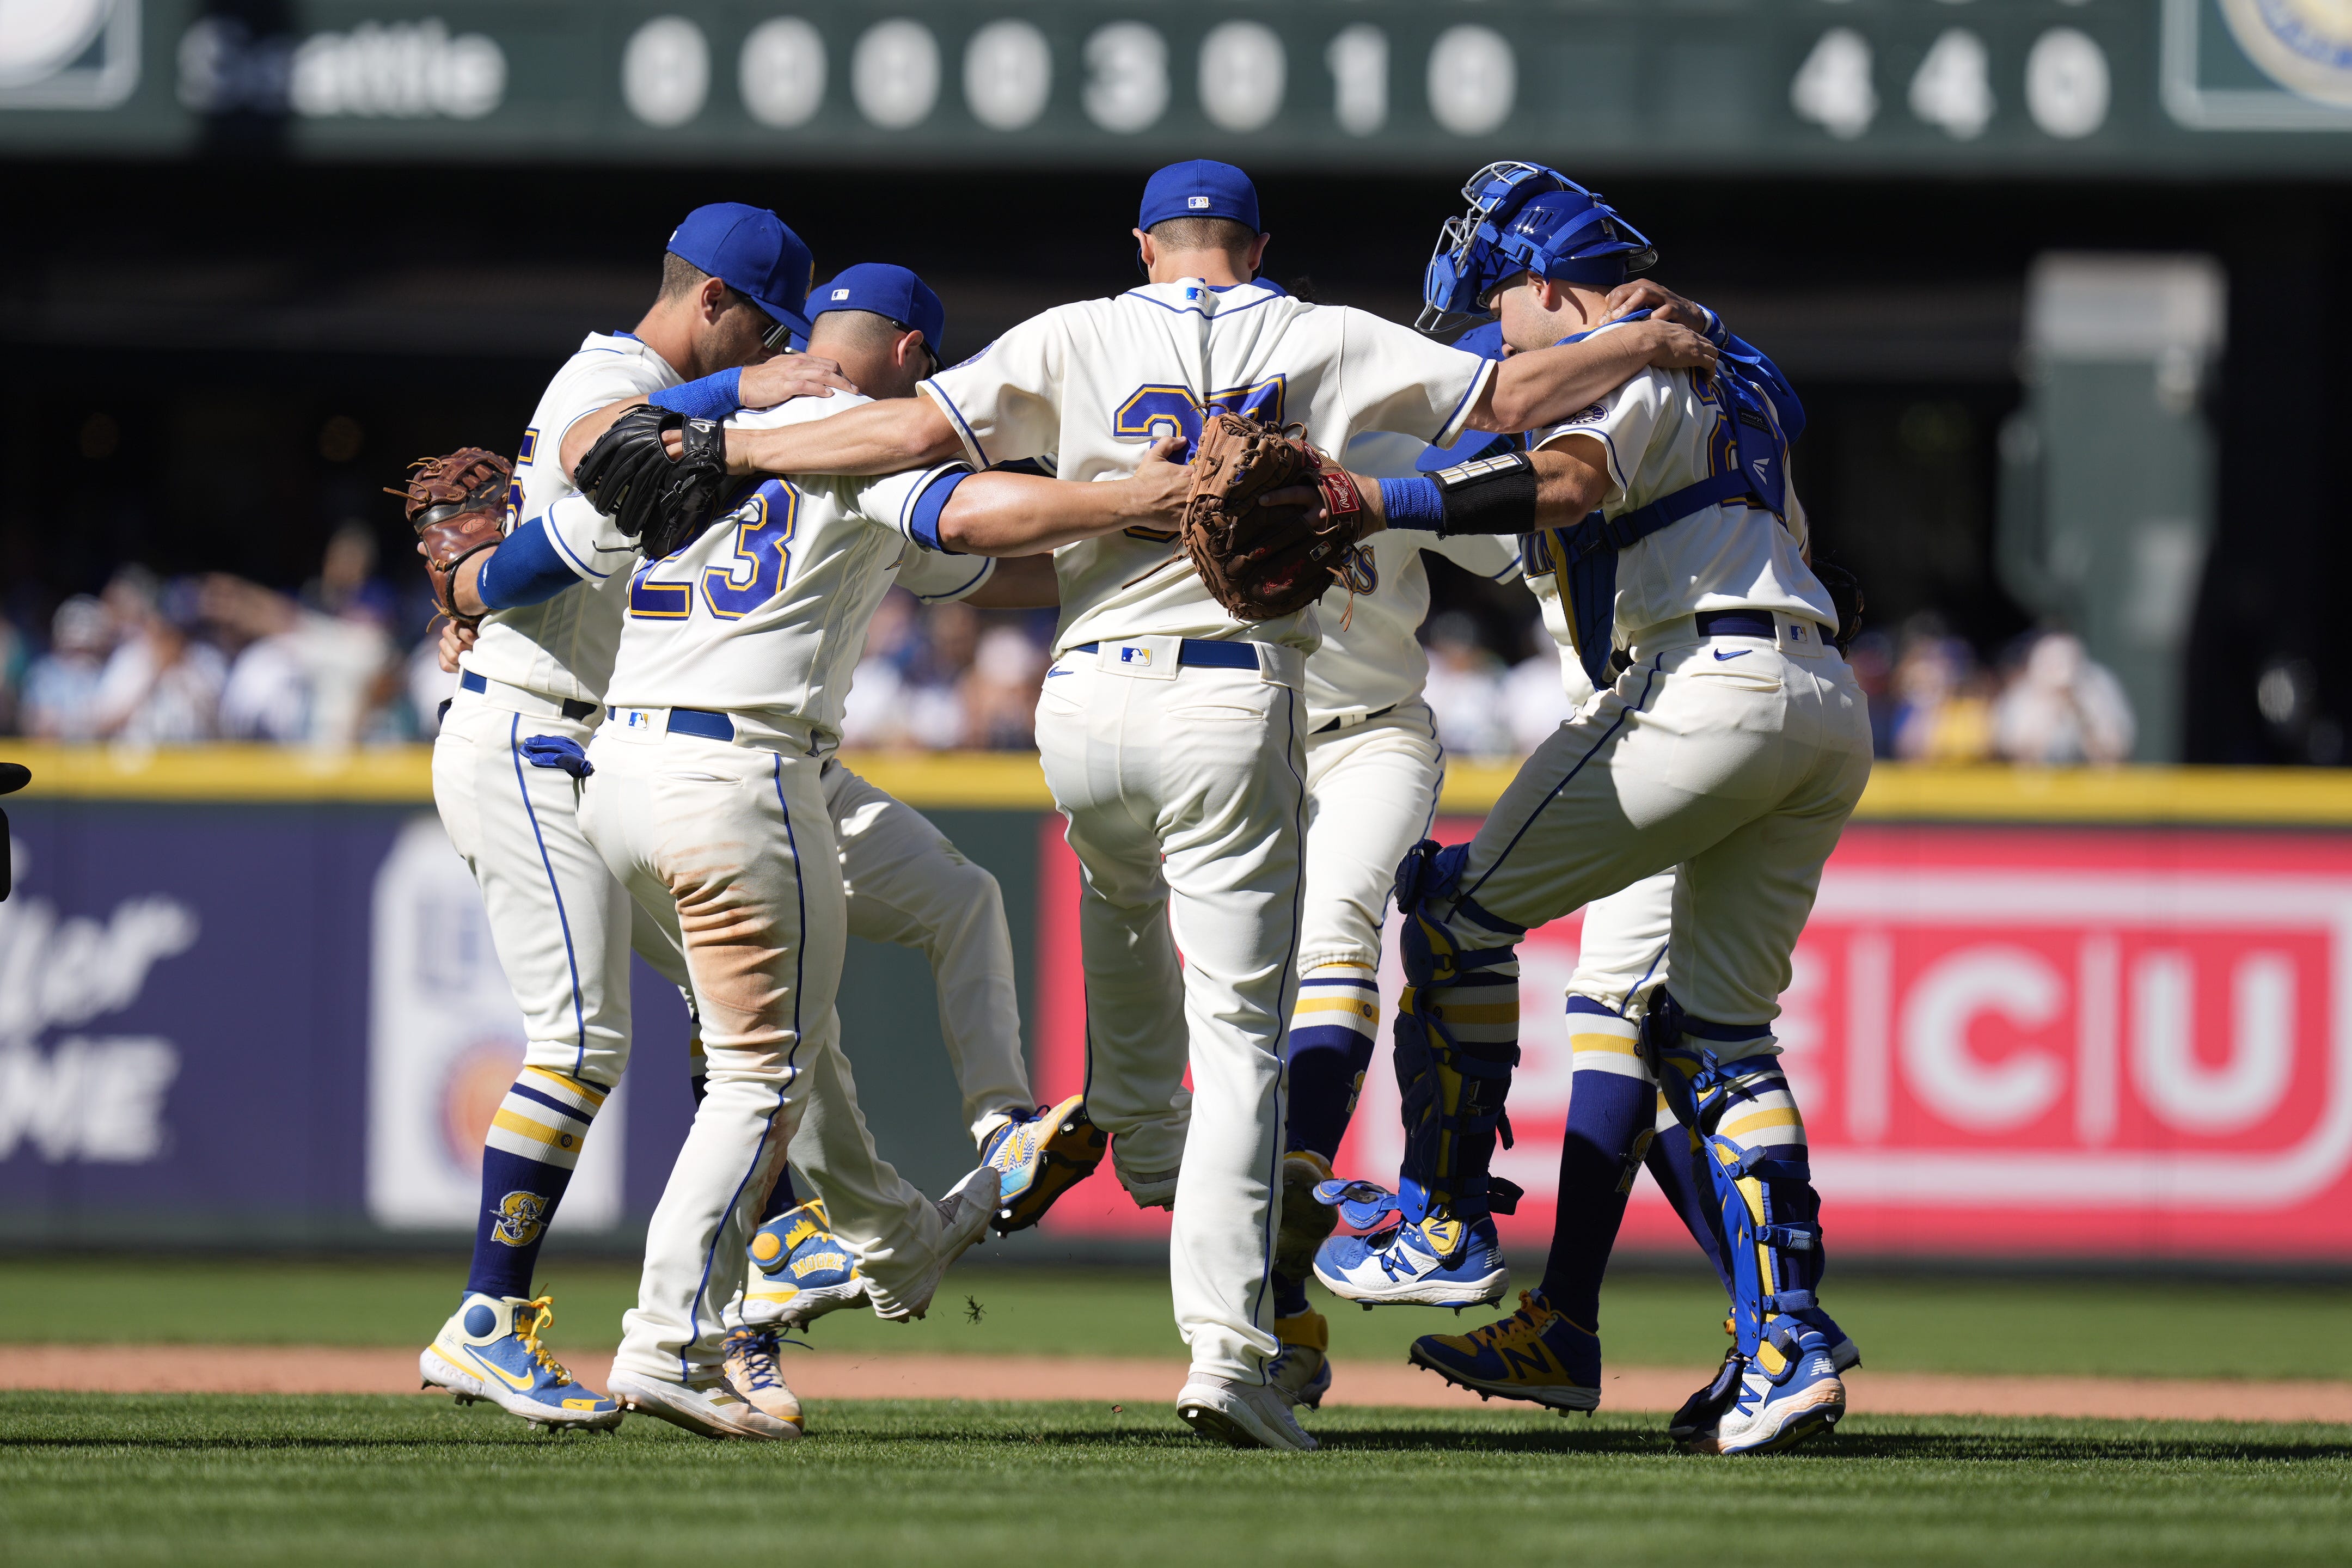
[[[828,1152],[826,1211],[877,1312],[936,1262],[941,1220],[875,1154],[840,1051],[847,907],[818,762],[612,726],[588,755],[581,825],[637,903],[675,910],[708,1063],[614,1366],[708,1382],[750,1215],[804,1121]]]

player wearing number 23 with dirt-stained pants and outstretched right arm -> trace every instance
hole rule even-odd
[[[809,348],[903,397],[931,369],[924,334],[903,322],[833,310],[807,329]],[[788,428],[847,416],[854,402],[797,400],[743,423]],[[962,463],[880,480],[795,475],[760,482],[710,527],[673,529],[630,510],[642,498],[630,484],[607,484],[637,473],[633,454],[647,444],[659,458],[673,421],[659,407],[614,418],[581,458],[583,496],[548,520],[550,531],[590,536],[600,559],[630,536],[642,557],[628,574],[609,717],[583,757],[581,825],[637,903],[675,912],[708,1058],[612,1389],[694,1432],[797,1436],[729,1387],[722,1312],[743,1279],[743,1197],[769,1192],[800,1126],[823,1154],[809,1171],[826,1213],[854,1244],[882,1316],[924,1312],[1002,1192],[990,1164],[938,1206],[898,1178],[856,1117],[837,1041],[847,907],[821,773],[866,623],[908,541],[1030,555],[1164,527],[1188,475],[1167,461],[1120,484],[974,475]]]

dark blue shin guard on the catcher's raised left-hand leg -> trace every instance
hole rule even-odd
[[[1397,867],[1404,914],[1397,1001],[1397,1091],[1404,1100],[1404,1168],[1397,1199],[1406,1220],[1463,1227],[1512,1213],[1519,1187],[1486,1173],[1496,1138],[1510,1147],[1503,1103],[1519,1065],[1519,954],[1524,929],[1454,893],[1468,846],[1423,839]],[[1501,945],[1463,947],[1437,907],[1494,931]],[[1435,1239],[1435,1237],[1432,1237]]]

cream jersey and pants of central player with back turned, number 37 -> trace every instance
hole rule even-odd
[[[922,393],[974,465],[1054,454],[1063,480],[1098,480],[1134,473],[1155,435],[1197,435],[1204,409],[1303,421],[1327,451],[1357,430],[1451,442],[1489,376],[1359,310],[1181,280],[1047,310]],[[1089,1114],[1131,1192],[1174,1187],[1195,1371],[1265,1382],[1319,628],[1312,609],[1235,621],[1171,538],[1056,552],[1037,748],[1084,870]]]

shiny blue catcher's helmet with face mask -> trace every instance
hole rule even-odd
[[[1534,162],[1491,162],[1463,186],[1470,212],[1437,230],[1421,280],[1421,331],[1446,334],[1489,313],[1517,273],[1609,287],[1658,266],[1658,247],[1597,190]]]

